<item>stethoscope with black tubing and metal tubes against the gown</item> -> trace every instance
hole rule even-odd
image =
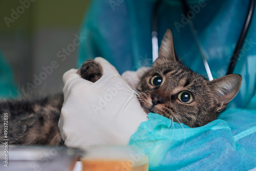
[[[155,4],[155,8],[153,10],[153,15],[152,15],[152,54],[153,54],[153,62],[158,58],[158,38],[157,38],[157,33],[158,33],[157,32],[158,31],[158,24],[157,24],[157,22],[158,22],[158,20],[157,20],[157,10],[158,10],[158,7],[159,7],[159,5],[161,3],[162,3],[162,0],[157,0],[157,2]],[[183,5],[184,13],[188,14],[189,6],[187,5],[186,1],[185,0],[181,0],[181,3]],[[238,61],[238,57],[239,57],[239,54],[240,54],[239,51],[242,49],[242,46],[243,46],[246,34],[247,34],[247,32],[249,30],[249,27],[250,27],[251,18],[252,18],[253,11],[254,11],[254,5],[255,5],[255,0],[250,0],[248,11],[247,11],[247,15],[246,15],[246,19],[245,19],[245,23],[244,23],[242,32],[240,33],[240,37],[239,37],[239,40],[237,42],[237,46],[234,49],[234,52],[233,52],[232,57],[231,57],[231,60],[229,62],[229,66],[228,66],[228,70],[227,70],[227,75],[228,74],[232,74],[233,70],[234,70],[234,67],[236,67],[236,64],[237,64],[237,61]],[[187,17],[187,15],[186,15],[186,17]],[[212,75],[211,75],[211,71],[210,71],[208,62],[206,60],[205,54],[204,54],[204,52],[202,50],[202,47],[200,45],[200,42],[199,42],[199,40],[198,40],[198,38],[196,36],[196,29],[194,27],[194,23],[192,22],[191,19],[188,19],[188,20],[190,20],[189,27],[190,27],[191,32],[193,34],[193,37],[194,37],[194,39],[196,41],[196,44],[197,44],[197,46],[199,48],[201,57],[202,57],[203,62],[204,62],[204,67],[205,67],[207,76],[208,76],[209,80],[211,81],[211,80],[213,80]]]

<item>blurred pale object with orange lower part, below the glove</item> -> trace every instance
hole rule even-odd
[[[146,171],[148,158],[142,149],[133,146],[93,146],[82,158],[83,171],[116,170]]]

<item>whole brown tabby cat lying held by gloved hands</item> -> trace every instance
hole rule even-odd
[[[102,76],[102,71],[99,63],[88,60],[78,74],[95,82]],[[153,67],[141,75],[137,91],[146,113],[157,113],[197,127],[215,120],[237,95],[240,86],[239,75],[231,74],[207,81],[185,67],[175,55],[172,33],[167,30],[159,57]],[[34,100],[1,101],[0,122],[3,125],[4,114],[7,113],[9,144],[63,144],[58,130],[62,103],[62,94]],[[4,139],[2,126],[0,143]]]

